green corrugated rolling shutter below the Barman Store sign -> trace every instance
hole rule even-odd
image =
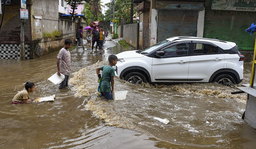
[[[236,43],[239,50],[254,50],[255,35],[250,36],[244,30],[255,20],[255,12],[206,10],[204,38],[219,37]]]

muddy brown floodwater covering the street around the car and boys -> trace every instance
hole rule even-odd
[[[57,52],[34,60],[0,60],[0,149],[255,149],[256,130],[241,119],[247,94],[232,95],[235,87],[134,85],[115,77],[115,91],[127,90],[126,100],[103,100],[96,68],[107,64],[110,54],[131,48],[107,41],[103,50],[70,51],[64,90],[47,80],[57,72]],[[251,67],[244,63],[242,84],[249,83]],[[11,104],[27,81],[36,85],[31,98],[55,94],[55,100]]]

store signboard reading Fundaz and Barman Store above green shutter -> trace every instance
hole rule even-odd
[[[256,0],[213,0],[214,10],[256,11]]]

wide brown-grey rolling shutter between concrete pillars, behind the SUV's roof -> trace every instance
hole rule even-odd
[[[191,10],[158,10],[157,42],[174,36],[194,36],[197,33],[198,12]]]

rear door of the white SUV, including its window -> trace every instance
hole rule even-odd
[[[208,42],[193,42],[188,82],[209,82],[211,75],[224,67],[225,57],[219,47]]]

